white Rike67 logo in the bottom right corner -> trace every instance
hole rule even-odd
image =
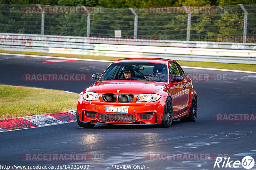
[[[242,159],[242,162],[240,160],[230,161],[230,157],[228,157],[228,160],[226,159],[226,157],[224,159],[221,157],[217,157],[213,167],[215,168],[217,166],[218,168],[231,168],[233,166],[233,168],[239,168],[239,166],[242,165],[245,169],[251,169],[254,166],[254,159],[251,156],[245,156]]]

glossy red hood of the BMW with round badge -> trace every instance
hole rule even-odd
[[[141,93],[153,93],[156,90],[162,89],[167,86],[164,82],[154,81],[134,81],[134,80],[111,80],[111,81],[97,81],[88,87],[88,91],[96,92],[99,94],[115,93],[120,90],[120,94],[133,94],[138,95]]]

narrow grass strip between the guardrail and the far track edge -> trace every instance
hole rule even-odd
[[[44,55],[44,56],[54,56],[54,57],[70,57],[70,58],[79,58],[79,59],[110,60],[110,61],[115,61],[115,60],[118,60],[118,59],[122,59],[122,58],[119,58],[119,57],[106,57],[106,56],[94,56],[94,55],[36,53],[36,52],[4,51],[4,50],[0,50],[0,53]],[[256,65],[254,65],[254,64],[231,64],[231,63],[178,61],[178,60],[177,60],[177,62],[181,66],[221,68],[221,69],[243,70],[243,71],[256,71]]]

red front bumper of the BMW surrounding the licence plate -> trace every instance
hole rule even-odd
[[[82,95],[79,95],[79,120],[85,123],[97,121],[106,124],[161,124],[166,97],[161,96],[155,102],[138,102],[136,98],[134,96],[131,103],[107,103],[102,101],[101,96],[99,101],[86,101]],[[128,107],[128,113],[105,112],[105,106]],[[87,116],[88,112],[94,115]],[[148,115],[152,115],[152,117],[148,118]]]

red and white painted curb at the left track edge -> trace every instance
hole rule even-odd
[[[0,131],[61,124],[76,120],[76,110],[44,115],[0,119]]]

